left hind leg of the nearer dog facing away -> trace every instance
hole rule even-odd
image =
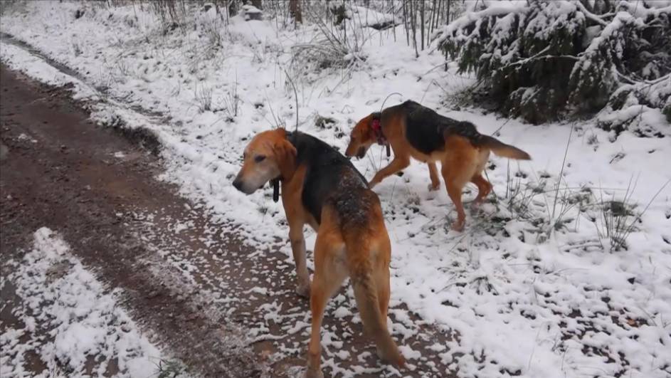
[[[324,377],[320,368],[322,347],[319,344],[324,308],[329,298],[340,288],[348,275],[342,234],[337,222],[329,219],[327,213],[329,211],[322,212],[322,224],[319,225],[315,242],[315,276],[310,290],[312,329],[310,346],[307,351],[307,371],[305,372],[305,377],[309,378]]]

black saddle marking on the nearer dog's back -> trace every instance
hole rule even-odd
[[[366,207],[361,203],[361,191],[367,191],[368,184],[347,157],[312,135],[291,132],[287,139],[296,147],[297,166],[307,166],[301,200],[318,224],[322,221],[322,207],[328,202],[341,218],[355,216],[354,209]]]

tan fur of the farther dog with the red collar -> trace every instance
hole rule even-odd
[[[392,108],[389,108],[392,109]],[[385,113],[386,112],[386,113]],[[383,112],[382,129],[384,137],[389,142],[393,150],[393,160],[386,167],[375,174],[369,182],[372,188],[379,184],[383,179],[391,174],[401,171],[410,165],[411,157],[428,164],[431,184],[430,190],[437,190],[440,187],[438,179],[438,168],[435,163],[440,162],[440,173],[445,181],[445,187],[450,199],[455,204],[458,214],[457,220],[453,223],[453,229],[463,230],[465,224],[465,211],[461,201],[461,191],[468,182],[477,186],[478,194],[475,198],[475,204],[480,204],[487,194],[492,191],[490,184],[485,177],[482,177],[482,170],[485,168],[490,151],[502,157],[512,159],[530,159],[526,152],[505,145],[495,138],[485,135],[477,135],[482,140],[481,143],[474,144],[469,138],[470,135],[459,135],[456,132],[445,133],[443,148],[435,150],[431,154],[425,154],[418,149],[413,148],[406,137],[406,119],[407,115],[401,107],[396,107],[393,111]],[[352,134],[350,135],[349,145],[345,156],[359,156],[365,152],[377,141],[376,133],[371,124],[374,115],[368,115],[356,123]],[[477,133],[477,132],[476,132]]]

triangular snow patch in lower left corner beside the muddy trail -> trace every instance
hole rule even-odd
[[[26,376],[31,353],[46,367],[41,377],[115,368],[117,377],[157,374],[164,356],[117,303],[118,290],[107,290],[57,233],[38,229],[32,250],[13,265],[2,285],[16,287],[21,306],[13,315],[25,327],[9,327],[0,337],[3,377]]]

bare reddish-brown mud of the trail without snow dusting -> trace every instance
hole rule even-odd
[[[241,330],[202,316],[189,298],[175,298],[167,290],[169,276],[157,280],[149,273],[153,253],[117,216],[130,207],[184,208],[173,187],[151,179],[160,172],[157,158],[93,125],[67,90],[38,85],[4,67],[0,84],[3,265],[21,258],[32,233],[47,226],[102,280],[123,288],[136,320],[196,372],[260,376],[253,351],[239,345]],[[117,152],[124,157],[115,158]],[[3,290],[4,298],[13,298],[11,288]],[[11,305],[1,320],[3,328],[12,324]]]

